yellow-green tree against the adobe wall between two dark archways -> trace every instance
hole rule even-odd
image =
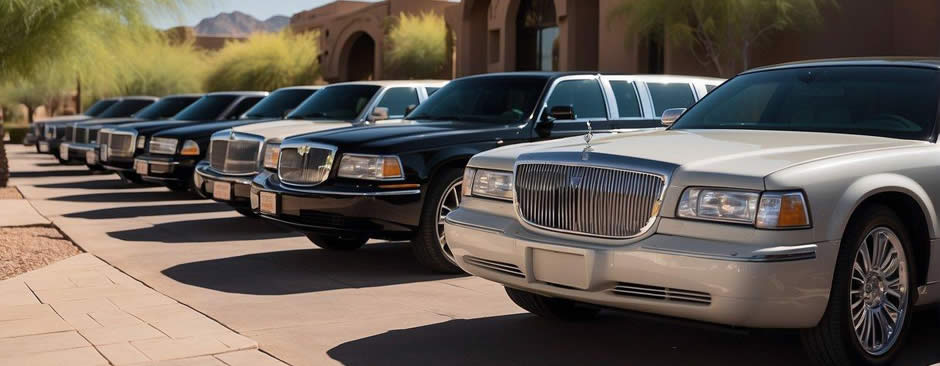
[[[385,64],[392,74],[440,77],[447,65],[447,26],[435,13],[402,13],[386,36]]]

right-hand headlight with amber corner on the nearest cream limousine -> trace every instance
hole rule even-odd
[[[679,199],[676,215],[690,219],[752,224],[765,229],[809,226],[809,213],[801,192],[761,194],[688,188]]]

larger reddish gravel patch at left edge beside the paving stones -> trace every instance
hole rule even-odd
[[[0,280],[79,253],[81,250],[52,226],[0,228]]]

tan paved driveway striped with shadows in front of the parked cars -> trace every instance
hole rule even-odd
[[[293,365],[805,364],[793,332],[730,332],[605,312],[559,324],[502,287],[435,275],[405,243],[352,253],[226,206],[10,148],[13,184],[86,250]],[[902,365],[940,362],[933,313]]]

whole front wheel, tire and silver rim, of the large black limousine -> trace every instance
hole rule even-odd
[[[460,205],[463,171],[448,169],[434,178],[421,210],[421,224],[411,248],[425,267],[441,273],[463,273],[444,236],[444,218]]]

